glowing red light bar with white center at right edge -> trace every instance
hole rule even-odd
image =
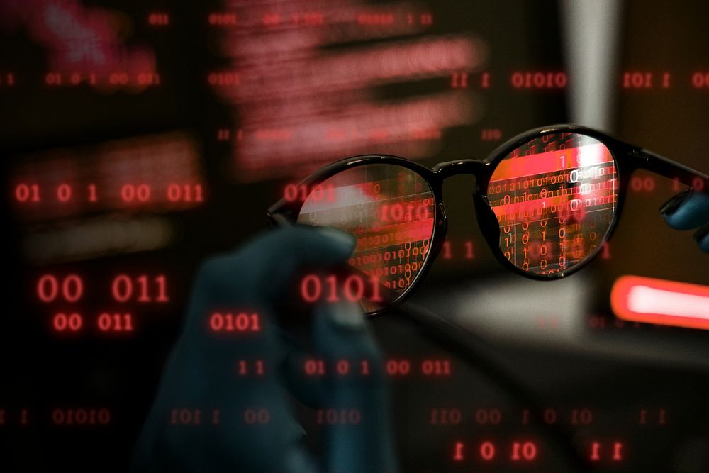
[[[709,330],[709,286],[622,276],[610,291],[610,306],[626,321]]]

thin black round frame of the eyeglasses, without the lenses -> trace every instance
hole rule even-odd
[[[495,171],[498,163],[505,159],[510,152],[513,152],[513,150],[519,148],[521,145],[529,143],[536,138],[541,138],[543,135],[559,133],[576,133],[579,135],[588,136],[603,143],[603,145],[610,150],[610,154],[613,156],[616,165],[616,177],[618,179],[618,201],[616,202],[613,220],[610,222],[610,226],[608,226],[608,229],[601,240],[599,240],[598,245],[596,245],[593,251],[584,256],[580,262],[577,262],[568,269],[563,269],[558,272],[537,274],[527,272],[524,269],[517,267],[503,254],[499,246],[501,228],[487,198],[487,191],[493,172]],[[573,124],[543,126],[526,131],[520,135],[516,135],[514,138],[510,138],[510,140],[507,140],[505,143],[498,146],[498,148],[493,150],[493,152],[491,152],[484,160],[470,159],[441,162],[432,168],[421,165],[418,162],[393,155],[359,155],[345,157],[342,160],[337,160],[318,169],[318,171],[310,174],[308,177],[303,179],[303,181],[298,183],[297,187],[306,186],[306,188],[312,189],[312,187],[324,182],[326,179],[335,174],[339,174],[340,172],[351,169],[352,167],[372,164],[396,165],[410,169],[411,171],[419,174],[420,177],[428,183],[435,200],[435,223],[433,233],[430,238],[429,254],[423,261],[423,267],[418,270],[411,284],[409,284],[408,287],[401,292],[401,294],[398,294],[396,299],[391,301],[387,307],[395,304],[398,305],[401,301],[405,300],[409,294],[411,294],[414,287],[428,272],[432,262],[440,253],[440,250],[445,243],[447,233],[447,217],[445,206],[443,204],[442,189],[443,182],[445,182],[445,179],[449,177],[458,174],[471,174],[475,177],[476,184],[473,189],[472,197],[478,226],[497,260],[501,262],[504,267],[511,269],[513,272],[530,279],[547,281],[566,277],[569,276],[569,274],[579,271],[579,269],[582,269],[588,265],[588,263],[591,262],[596,255],[598,255],[598,252],[602,250],[603,243],[607,242],[611,235],[613,235],[613,231],[620,220],[620,215],[623,211],[623,204],[625,203],[625,196],[627,195],[627,187],[630,184],[630,177],[635,170],[646,169],[663,177],[676,179],[679,183],[693,187],[694,189],[709,191],[709,176],[706,174],[686,167],[685,165],[681,165],[679,162],[674,162],[666,157],[657,155],[649,150],[645,150],[640,146],[630,145],[629,143],[620,141],[601,131]],[[270,223],[275,225],[294,224],[298,220],[298,215],[302,206],[303,201],[289,201],[286,200],[285,197],[282,197],[276,204],[272,205],[268,209],[267,218]],[[380,315],[385,310],[386,307],[380,309],[379,311],[368,313],[367,315],[369,317],[375,317]]]

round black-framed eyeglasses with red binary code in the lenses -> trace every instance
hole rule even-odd
[[[478,224],[504,266],[532,279],[557,279],[587,265],[610,238],[635,169],[709,189],[706,174],[597,130],[556,125],[515,136],[486,160],[432,169],[390,155],[347,157],[286,187],[267,216],[356,235],[350,265],[394,295],[384,304],[363,302],[367,315],[376,316],[406,299],[440,252],[448,177],[475,176]]]

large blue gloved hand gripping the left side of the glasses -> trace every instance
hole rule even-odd
[[[197,276],[184,330],[164,369],[160,388],[143,426],[133,471],[150,472],[376,472],[396,470],[389,396],[381,356],[353,303],[320,304],[313,309],[315,357],[350,360],[341,376],[307,377],[306,354],[287,342],[276,323],[275,302],[302,267],[344,263],[356,241],[333,228],[294,226],[272,230],[239,250],[214,257]],[[214,311],[258,313],[255,333],[215,334]],[[240,376],[238,361],[262,360],[261,376]],[[361,360],[369,375],[361,376]],[[334,370],[329,370],[334,371]],[[302,445],[301,426],[289,404],[292,394],[316,408],[358,409],[359,423],[324,429],[323,455]],[[199,409],[199,425],[174,425],[172,410]],[[246,412],[267,411],[266,423],[247,423]],[[218,424],[213,423],[218,410]],[[250,418],[254,420],[253,416]]]

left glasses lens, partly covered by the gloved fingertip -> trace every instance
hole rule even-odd
[[[357,237],[350,265],[367,275],[365,284],[383,284],[402,294],[428,257],[435,222],[435,201],[418,173],[389,164],[346,169],[313,187],[298,223],[333,226]],[[362,301],[367,312],[383,303],[362,299],[359,283],[345,294]],[[345,284],[347,293],[348,284]],[[353,295],[353,297],[350,297]],[[358,297],[359,296],[359,297]]]

